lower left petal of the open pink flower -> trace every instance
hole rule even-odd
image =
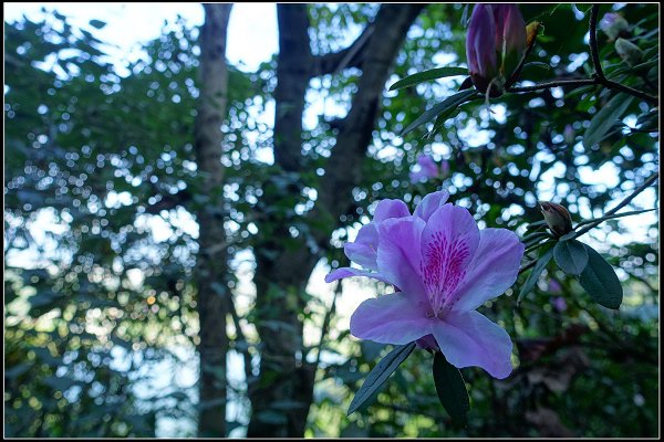
[[[417,296],[400,292],[360,304],[351,316],[351,334],[381,344],[403,345],[430,334],[433,323]]]

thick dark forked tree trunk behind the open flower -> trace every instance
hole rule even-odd
[[[360,42],[342,53],[322,57],[328,60],[324,70],[322,59],[314,62],[311,55],[305,8],[303,4],[278,6],[280,67],[274,94],[274,162],[278,166],[287,172],[301,171],[302,110],[309,78],[353,65],[359,60],[362,61],[359,63],[362,77],[322,179],[317,207],[310,215],[330,221],[329,228],[313,232],[315,250],[304,242],[303,235],[295,246],[284,245],[283,239],[290,238],[290,220],[264,214],[262,241],[255,248],[255,313],[262,348],[260,378],[250,389],[253,408],[247,434],[250,438],[299,438],[304,434],[315,377],[315,365],[304,359],[303,323],[298,317],[305,305],[304,290],[321,252],[329,248],[330,234],[339,225],[339,217],[353,204],[351,191],[361,178],[385,82],[406,32],[423,6],[381,7],[372,30],[363,32]],[[264,198],[266,207],[292,199],[292,191],[297,190],[297,183],[281,190],[266,190],[266,196],[271,196]],[[291,404],[284,411],[279,402],[287,400]],[[273,419],[276,417],[278,419]]]

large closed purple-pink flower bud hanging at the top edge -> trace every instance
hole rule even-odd
[[[526,22],[516,4],[476,4],[466,36],[468,70],[475,87],[486,92],[496,85],[502,93],[505,78],[526,51]]]

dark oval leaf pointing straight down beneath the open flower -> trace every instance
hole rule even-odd
[[[449,364],[440,351],[436,351],[434,356],[434,383],[447,414],[456,422],[465,424],[470,409],[466,382],[459,369]]]

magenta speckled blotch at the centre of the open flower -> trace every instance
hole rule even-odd
[[[426,245],[419,269],[434,316],[442,317],[456,301],[453,294],[466,275],[464,264],[469,255],[464,236],[449,240],[437,232]]]

